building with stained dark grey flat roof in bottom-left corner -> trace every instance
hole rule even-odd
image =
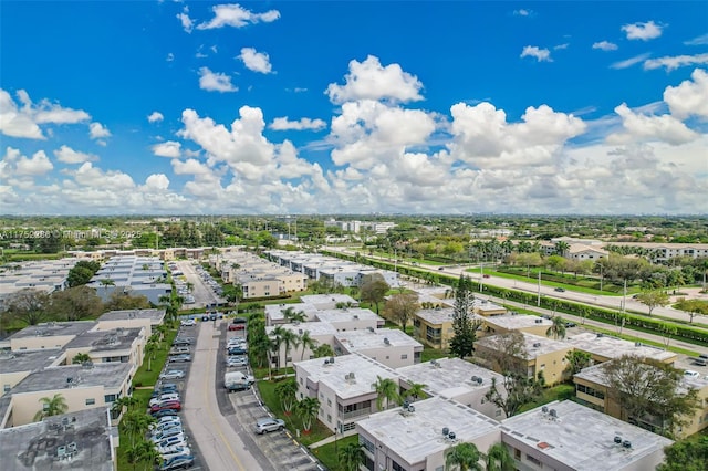
[[[117,447],[118,431],[105,408],[0,429],[3,471],[115,471]]]

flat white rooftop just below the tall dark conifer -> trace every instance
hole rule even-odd
[[[502,375],[460,358],[439,358],[434,362],[396,368],[396,373],[400,375],[400,379],[426,385],[426,390],[445,399],[454,399],[476,389],[487,389],[491,385],[491,378],[497,378],[499,384],[503,380]],[[472,377],[481,378],[481,384],[472,381]]]

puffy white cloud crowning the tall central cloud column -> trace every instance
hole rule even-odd
[[[414,75],[404,72],[398,64],[382,66],[378,57],[369,55],[364,62],[350,62],[345,84],[331,83],[326,94],[335,104],[356,100],[388,100],[392,102],[416,102],[423,100],[423,84]]]

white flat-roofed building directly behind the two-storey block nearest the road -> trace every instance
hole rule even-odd
[[[367,328],[335,333],[334,352],[358,352],[389,368],[399,368],[420,363],[423,344],[398,329]]]

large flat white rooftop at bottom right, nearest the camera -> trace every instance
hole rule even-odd
[[[550,402],[545,407],[549,411],[555,410],[558,418],[539,407],[504,419],[502,441],[507,441],[508,436],[579,471],[627,469],[632,462],[673,443],[571,400]],[[632,447],[615,443],[615,437],[628,440]]]

